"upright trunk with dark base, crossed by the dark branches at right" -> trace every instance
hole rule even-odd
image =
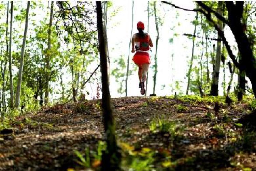
[[[218,9],[217,12],[222,15],[222,8],[223,8],[223,1],[218,1]],[[221,30],[223,30],[223,23],[221,20],[218,19],[218,26]],[[218,41],[217,41],[217,48],[216,48],[216,58],[215,58],[215,66],[213,72],[213,80],[211,86],[210,95],[218,96],[218,83],[219,83],[219,68],[221,64],[221,36],[218,33]]]

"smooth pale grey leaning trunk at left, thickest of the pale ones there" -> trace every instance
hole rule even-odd
[[[27,30],[28,30],[29,5],[30,5],[30,1],[28,1],[28,3],[27,3],[26,23],[25,23],[25,31],[24,31],[24,37],[23,37],[23,43],[22,43],[22,52],[21,52],[21,57],[20,57],[19,78],[18,78],[17,90],[16,90],[15,108],[19,107],[19,101],[20,101],[20,91],[21,91],[20,89],[21,89],[21,85],[22,85],[23,61],[24,61],[25,45],[26,45]]]

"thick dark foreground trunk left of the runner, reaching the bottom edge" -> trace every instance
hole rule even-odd
[[[102,157],[101,170],[118,170],[120,155],[117,151],[115,137],[115,122],[111,108],[111,98],[109,92],[109,81],[107,72],[107,59],[105,50],[104,31],[102,26],[102,10],[101,1],[96,1],[97,26],[99,38],[99,53],[101,67],[101,83],[102,83],[102,112],[103,123],[106,134],[107,149]]]

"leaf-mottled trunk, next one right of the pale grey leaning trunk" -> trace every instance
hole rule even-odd
[[[50,50],[51,50],[51,32],[52,32],[52,21],[53,21],[53,3],[51,3],[51,13],[50,13],[50,20],[49,20],[49,28],[48,28],[48,42],[47,42],[47,55],[46,55],[46,90],[45,90],[45,97],[44,103],[47,104],[49,102],[49,72],[50,72]]]

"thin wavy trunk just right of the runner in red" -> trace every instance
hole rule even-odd
[[[156,75],[157,75],[157,46],[158,46],[158,39],[159,39],[159,30],[158,30],[158,21],[157,21],[157,15],[156,15],[156,1],[154,1],[154,13],[155,13],[155,24],[156,24],[156,53],[155,53],[155,74],[153,77],[153,95],[155,95],[156,90]]]

